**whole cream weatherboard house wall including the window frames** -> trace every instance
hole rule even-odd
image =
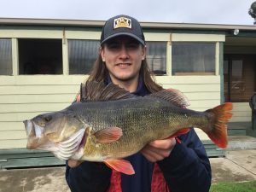
[[[98,39],[100,32],[63,30],[63,28],[17,27],[1,29],[0,38],[12,38],[13,75],[0,76],[0,148],[26,148],[26,132],[22,123],[39,113],[54,112],[66,108],[79,91],[84,75],[68,75],[67,39]],[[62,39],[62,75],[19,75],[17,38],[60,38]],[[219,44],[224,35],[175,34],[147,32],[148,41],[165,41],[167,46],[165,76],[155,77],[164,88],[181,90],[189,98],[189,108],[204,111],[221,102],[221,76],[218,73]],[[172,76],[172,42],[201,41],[216,43],[216,73],[213,75]],[[202,140],[208,139],[197,131]]]

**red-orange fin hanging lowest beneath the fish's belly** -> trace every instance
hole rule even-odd
[[[128,160],[104,160],[104,163],[111,169],[126,175],[133,175],[135,173]]]

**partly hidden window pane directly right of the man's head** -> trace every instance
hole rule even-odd
[[[166,42],[148,42],[147,61],[154,74],[166,74]]]

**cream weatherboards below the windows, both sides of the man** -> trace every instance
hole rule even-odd
[[[0,76],[0,148],[25,148],[22,123],[39,113],[66,108],[85,76],[32,75]],[[181,90],[198,111],[217,106],[220,101],[219,76],[156,77],[164,88]],[[201,139],[206,136],[198,131]]]

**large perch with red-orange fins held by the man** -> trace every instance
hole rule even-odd
[[[134,174],[131,163],[123,158],[189,127],[205,131],[218,147],[227,146],[225,124],[232,116],[232,103],[197,112],[185,108],[188,102],[178,90],[141,97],[103,82],[82,84],[80,98],[81,102],[61,111],[25,120],[26,148],[49,150],[62,160],[104,162]]]

